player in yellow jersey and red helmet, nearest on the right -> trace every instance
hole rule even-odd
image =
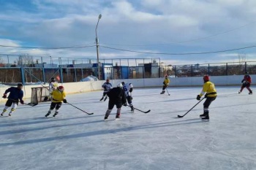
[[[200,115],[200,117],[202,117],[202,120],[209,120],[208,107],[210,106],[211,101],[214,101],[217,98],[217,90],[215,90],[214,83],[210,82],[210,77],[208,75],[203,77],[203,81],[203,90],[199,95],[197,95],[197,100],[200,101],[201,96],[206,93],[206,101],[203,103],[203,114]]]

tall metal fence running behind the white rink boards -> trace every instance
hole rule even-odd
[[[0,82],[79,82],[97,75],[95,59],[43,58],[29,55],[0,55]],[[256,62],[203,63],[162,66],[160,58],[120,58],[100,61],[100,80],[165,77],[199,77],[256,74]]]

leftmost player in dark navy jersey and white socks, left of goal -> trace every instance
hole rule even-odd
[[[22,88],[23,88],[23,85],[21,83],[18,83],[17,88],[11,87],[5,90],[3,98],[7,98],[7,93],[10,93],[10,94],[8,96],[8,100],[5,104],[3,112],[1,113],[1,116],[3,116],[4,113],[7,112],[7,109],[12,106],[12,109],[9,112],[9,116],[11,116],[12,112],[14,112],[15,109],[18,107],[19,100],[20,100],[20,104],[24,104]]]

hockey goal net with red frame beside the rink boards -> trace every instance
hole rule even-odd
[[[31,90],[31,104],[38,104],[50,95],[48,87],[31,88]]]

